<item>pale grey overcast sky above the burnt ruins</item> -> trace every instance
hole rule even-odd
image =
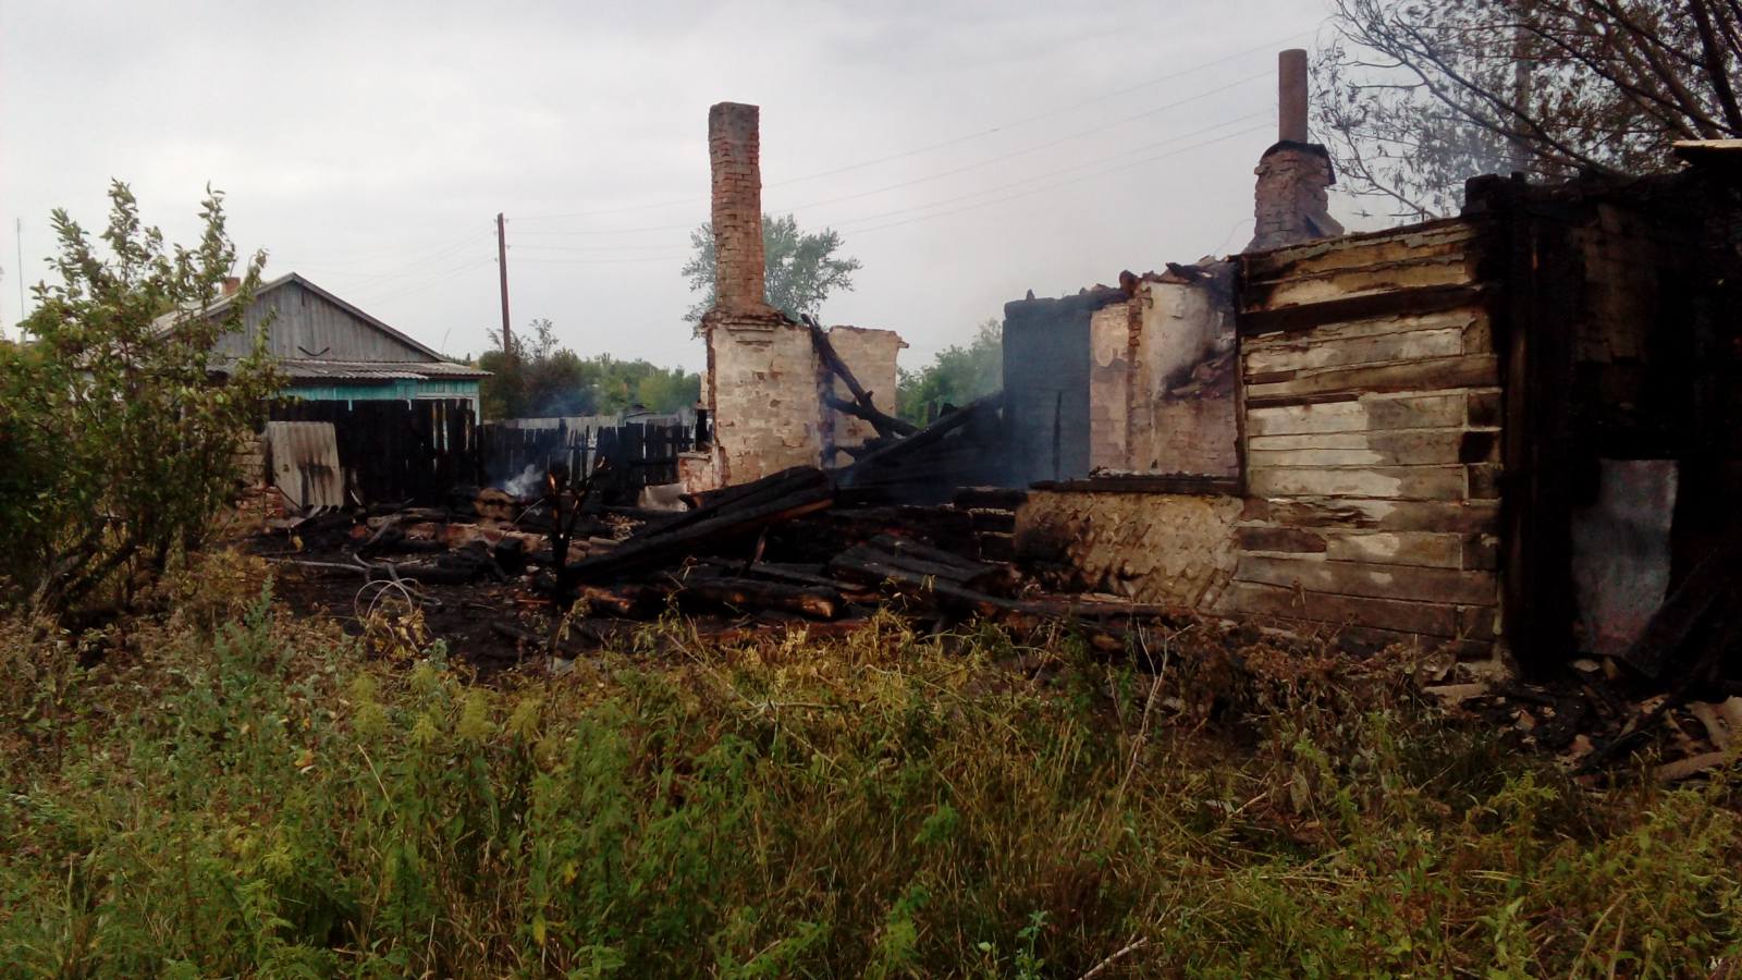
[[[49,211],[110,178],[192,241],[209,181],[267,274],[455,356],[512,317],[580,354],[700,368],[678,276],[707,218],[707,106],[761,106],[763,208],[864,262],[826,323],[904,366],[1024,291],[1239,251],[1275,51],[1319,0],[167,3],[0,0],[0,324]],[[21,256],[16,249],[23,220]],[[28,302],[28,298],[26,298]]]

